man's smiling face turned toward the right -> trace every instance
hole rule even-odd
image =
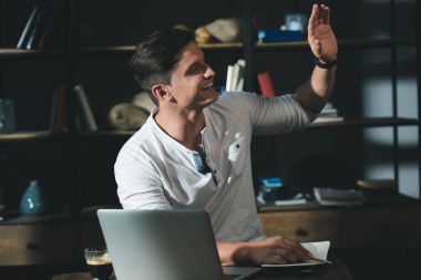
[[[218,98],[214,87],[215,72],[205,63],[204,54],[195,42],[188,43],[181,54],[167,91],[177,106],[204,108]]]

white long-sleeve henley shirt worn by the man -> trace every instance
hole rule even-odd
[[[315,118],[295,95],[268,98],[224,93],[206,107],[202,141],[212,173],[202,158],[170,137],[151,114],[122,147],[114,172],[117,194],[127,209],[204,209],[218,241],[265,237],[251,178],[251,134],[287,133]]]

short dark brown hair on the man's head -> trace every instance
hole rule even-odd
[[[192,41],[193,32],[175,28],[155,31],[143,40],[129,62],[138,85],[151,92],[154,84],[171,84],[181,51]]]

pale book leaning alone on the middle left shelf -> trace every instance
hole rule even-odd
[[[74,92],[76,94],[78,107],[76,113],[80,117],[81,128],[83,131],[95,132],[97,131],[96,122],[92,113],[91,105],[88,101],[85,90],[82,84],[76,84],[74,86]]]

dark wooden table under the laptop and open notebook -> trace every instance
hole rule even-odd
[[[263,276],[256,274],[250,280],[353,280],[348,268],[339,260],[307,276]],[[51,280],[92,280],[89,272],[55,274]]]

